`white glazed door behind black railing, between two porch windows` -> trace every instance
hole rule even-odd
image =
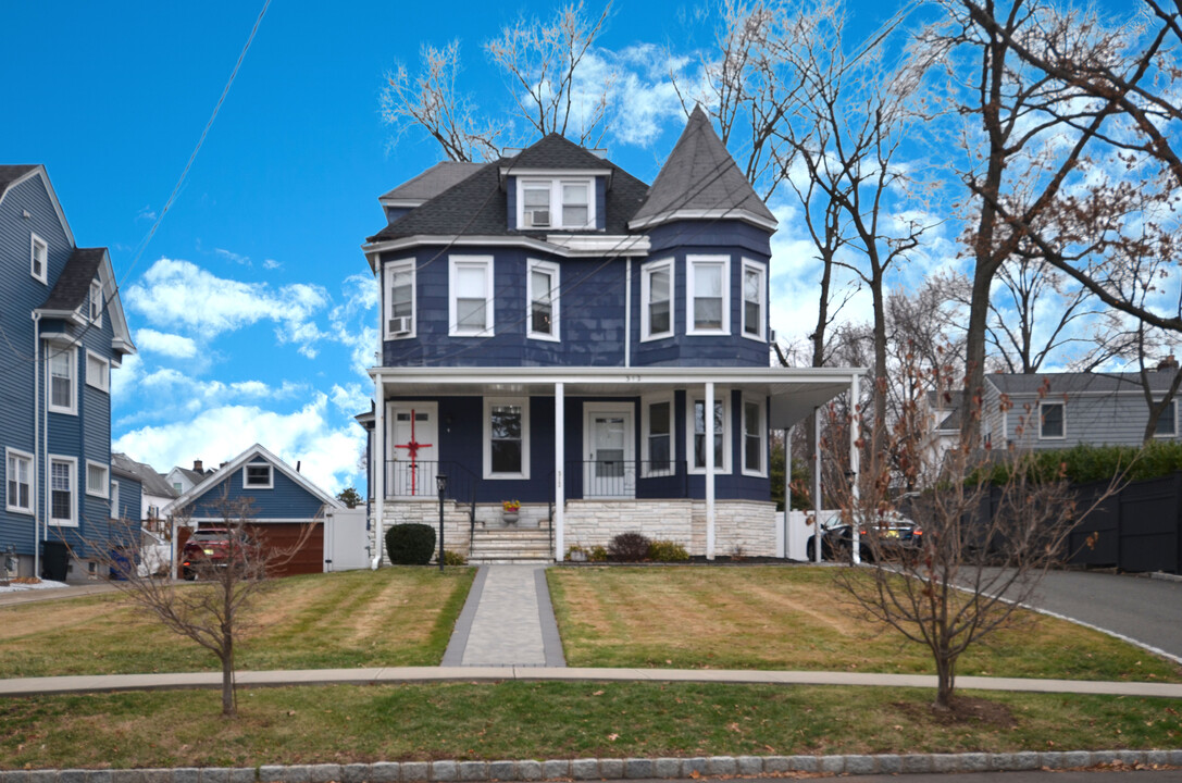
[[[587,498],[636,497],[632,454],[632,406],[628,402],[587,402],[583,442],[583,494]]]

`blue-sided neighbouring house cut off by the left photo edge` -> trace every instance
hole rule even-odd
[[[106,248],[77,246],[43,166],[0,166],[0,549],[27,576],[64,542],[70,578],[98,575],[86,542],[134,493],[112,480],[110,389],[136,349]]]

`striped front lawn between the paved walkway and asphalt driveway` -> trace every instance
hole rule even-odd
[[[832,568],[559,568],[551,596],[570,666],[934,673],[926,647],[869,623]],[[1024,613],[959,674],[1182,681],[1182,667]]]

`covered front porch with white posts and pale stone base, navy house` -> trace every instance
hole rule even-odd
[[[552,530],[556,559],[624,530],[708,558],[774,548],[768,433],[856,395],[860,374],[376,368],[376,537],[389,524],[437,519],[436,478],[446,475],[449,548],[468,539],[466,528],[500,524],[506,500],[521,503],[520,525]]]

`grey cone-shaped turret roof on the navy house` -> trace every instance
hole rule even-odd
[[[777,226],[775,215],[752,189],[697,105],[629,226],[702,218],[745,220],[769,231]]]

